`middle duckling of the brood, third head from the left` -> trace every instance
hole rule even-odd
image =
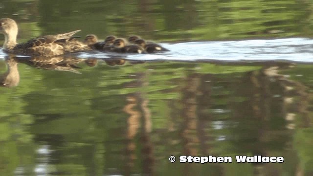
[[[118,53],[144,53],[145,50],[139,45],[131,44],[127,45],[128,42],[123,38],[117,38],[115,39],[113,43],[113,52]]]

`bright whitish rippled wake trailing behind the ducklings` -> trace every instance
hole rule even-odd
[[[274,40],[245,40],[223,42],[186,42],[162,44],[169,52],[158,54],[124,54],[133,60],[222,60],[222,61],[271,61],[313,62],[313,40],[289,38]],[[6,54],[0,50],[0,58]],[[110,58],[114,53],[83,53],[80,57]],[[120,56],[120,55],[119,55]]]

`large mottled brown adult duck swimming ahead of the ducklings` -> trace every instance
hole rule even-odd
[[[91,48],[72,37],[80,30],[65,34],[37,37],[23,44],[17,44],[17,23],[9,18],[0,19],[0,33],[4,34],[3,50],[12,54],[27,56],[53,57],[71,52],[90,50]]]

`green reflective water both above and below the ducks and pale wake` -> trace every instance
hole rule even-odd
[[[306,0],[2,0],[0,14],[17,20],[20,41],[82,29],[82,36],[178,43],[311,37],[312,7]],[[3,75],[8,61],[0,56]],[[37,69],[18,60],[18,86],[0,88],[0,176],[313,175],[311,64],[96,61]],[[179,163],[180,155],[233,162]],[[284,162],[237,163],[236,155]]]

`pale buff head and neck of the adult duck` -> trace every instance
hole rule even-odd
[[[9,18],[0,19],[0,33],[4,35],[3,48],[7,49],[16,45],[18,35],[17,23]]]

